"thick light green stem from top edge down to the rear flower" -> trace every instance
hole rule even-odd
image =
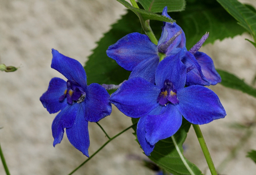
[[[138,4],[136,3],[135,0],[130,0],[130,2],[132,3],[132,6],[134,8],[139,8]],[[152,31],[152,29],[150,28],[150,25],[149,25],[149,20],[148,22],[145,22],[145,20],[143,19],[142,15],[140,13],[136,13],[137,16],[139,17],[140,19],[140,24],[142,26],[142,29],[144,30],[144,32],[148,35],[150,41],[152,43],[154,43],[155,45],[158,44],[158,40],[156,39],[156,36],[154,35],[154,32]]]

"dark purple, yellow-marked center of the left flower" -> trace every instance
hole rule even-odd
[[[68,104],[73,104],[73,102],[80,103],[84,101],[85,96],[86,94],[82,87],[67,81],[67,89],[64,91],[64,94],[60,96],[59,101],[67,98]]]

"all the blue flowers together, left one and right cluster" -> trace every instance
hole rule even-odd
[[[162,14],[170,18],[167,7]],[[136,133],[146,155],[159,140],[179,130],[182,116],[192,124],[224,118],[218,96],[204,87],[221,81],[212,59],[198,51],[207,37],[208,33],[188,51],[184,31],[168,22],[157,45],[140,33],[124,36],[106,52],[131,71],[120,87],[87,85],[82,65],[52,49],[51,67],[68,79],[53,78],[40,97],[49,113],[60,111],[52,122],[53,146],[61,142],[66,128],[70,143],[89,157],[88,122],[110,115],[111,103],[125,115],[140,118]],[[110,97],[106,89],[113,87],[119,88]]]

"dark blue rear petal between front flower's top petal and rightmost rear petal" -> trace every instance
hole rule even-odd
[[[196,61],[196,58],[192,53],[186,52],[184,56],[182,57],[182,63],[187,67],[187,80],[186,85],[202,85],[202,86],[209,86],[210,83],[204,77],[201,66]]]

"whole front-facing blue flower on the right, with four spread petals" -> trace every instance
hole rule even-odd
[[[155,74],[156,85],[141,77],[124,82],[110,97],[126,116],[140,118],[138,141],[146,155],[155,144],[175,134],[182,116],[192,124],[206,124],[224,118],[226,112],[218,96],[210,89],[186,84],[186,66],[180,54],[160,61]]]

